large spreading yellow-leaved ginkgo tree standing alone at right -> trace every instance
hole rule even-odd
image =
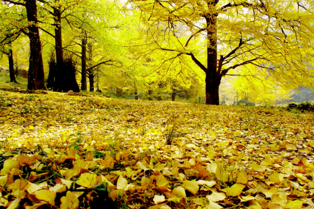
[[[189,56],[205,74],[206,104],[219,104],[221,78],[239,66],[311,86],[312,1],[133,0],[156,50]],[[234,71],[233,71],[234,72]],[[241,75],[241,73],[239,73]],[[311,86],[313,87],[313,86]]]

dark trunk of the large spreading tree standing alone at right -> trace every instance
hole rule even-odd
[[[208,8],[213,7],[213,3],[208,3]],[[209,14],[205,16],[207,24],[207,70],[206,78],[206,104],[219,105],[219,85],[220,72],[217,72],[217,16]]]

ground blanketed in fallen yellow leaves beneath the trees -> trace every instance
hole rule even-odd
[[[2,208],[314,208],[312,113],[8,91],[0,108]]]

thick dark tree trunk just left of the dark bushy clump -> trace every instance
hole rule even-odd
[[[25,8],[28,20],[28,37],[30,39],[30,58],[28,68],[28,83],[29,90],[47,90],[45,86],[44,66],[41,55],[41,41],[39,29],[37,27],[37,6],[36,0],[25,1]]]

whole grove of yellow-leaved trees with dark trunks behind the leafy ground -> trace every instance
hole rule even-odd
[[[29,90],[89,84],[135,99],[204,95],[219,105],[225,76],[239,99],[287,99],[291,89],[314,87],[310,0],[0,2],[1,63],[16,82],[22,43]]]

